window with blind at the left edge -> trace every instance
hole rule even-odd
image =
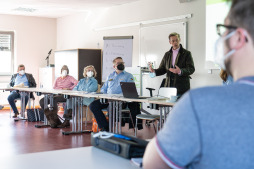
[[[0,31],[0,75],[11,75],[14,63],[14,32]]]

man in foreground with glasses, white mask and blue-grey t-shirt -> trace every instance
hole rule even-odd
[[[253,9],[253,0],[232,0],[217,25],[217,61],[235,82],[185,94],[148,144],[145,169],[254,168]]]

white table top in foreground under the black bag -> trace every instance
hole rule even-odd
[[[3,169],[138,169],[130,160],[95,147],[1,157]]]

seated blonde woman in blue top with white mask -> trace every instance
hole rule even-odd
[[[92,65],[89,65],[84,68],[83,72],[83,79],[80,79],[77,86],[73,89],[75,91],[85,91],[87,93],[96,92],[98,90],[98,82],[94,78],[96,77],[97,72]],[[88,106],[91,102],[93,102],[94,98],[83,98],[83,104]],[[64,109],[65,118],[64,122],[59,125],[59,128],[69,127],[70,126],[70,119],[72,118],[72,100],[68,99],[67,104]]]

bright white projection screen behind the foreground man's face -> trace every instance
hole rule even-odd
[[[219,69],[214,64],[215,42],[219,38],[216,24],[224,24],[230,4],[226,0],[206,0],[206,68]]]

